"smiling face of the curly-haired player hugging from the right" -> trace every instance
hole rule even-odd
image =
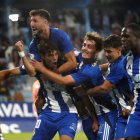
[[[95,41],[85,40],[82,46],[82,57],[84,59],[93,59],[96,54]]]

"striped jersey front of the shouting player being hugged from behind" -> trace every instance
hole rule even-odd
[[[41,85],[39,92],[41,92],[41,94],[43,92],[43,95],[45,96],[46,100],[46,103],[43,106],[43,113],[45,112],[77,113],[77,109],[73,104],[71,96],[67,92],[65,86],[58,85],[52,81],[49,81],[46,78],[44,78],[43,75],[40,74],[38,79]]]

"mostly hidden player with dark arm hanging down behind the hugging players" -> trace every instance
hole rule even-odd
[[[74,50],[76,60],[78,65],[82,61],[82,53],[78,50]],[[74,72],[78,70],[78,67]],[[95,111],[95,107],[88,96],[80,97],[76,93],[77,88],[75,86],[70,86],[70,91],[72,100],[77,108],[79,118],[82,121],[82,127],[85,135],[89,140],[97,139],[97,132],[99,129],[98,119]]]

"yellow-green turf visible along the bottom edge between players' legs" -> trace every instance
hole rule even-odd
[[[4,134],[5,140],[31,140],[31,137],[32,133]],[[58,134],[53,138],[53,140],[59,140]],[[76,134],[74,140],[87,140],[87,138],[83,132],[79,132]]]

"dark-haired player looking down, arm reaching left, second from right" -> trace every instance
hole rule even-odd
[[[102,85],[91,88],[84,95],[106,94],[113,91],[119,106],[119,117],[116,126],[116,140],[124,139],[127,117],[131,112],[130,100],[132,96],[132,83],[124,67],[124,57],[121,54],[121,37],[110,35],[104,41],[105,56],[109,62],[108,74]],[[115,89],[112,89],[114,88]]]

